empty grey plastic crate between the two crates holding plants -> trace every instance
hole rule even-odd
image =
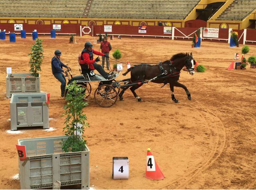
[[[17,127],[49,128],[49,108],[46,93],[13,94],[10,101],[11,130]]]

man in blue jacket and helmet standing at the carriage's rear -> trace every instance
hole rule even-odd
[[[63,67],[69,68],[69,67],[67,67],[60,61],[60,58],[61,58],[60,50],[56,50],[54,54],[55,56],[52,58],[52,71],[55,78],[57,78],[61,82],[61,96],[64,97],[66,78],[63,74],[63,72],[65,71],[62,68]]]

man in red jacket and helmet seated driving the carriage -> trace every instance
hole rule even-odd
[[[101,74],[101,76],[103,76],[105,79],[111,79],[111,74],[113,74],[113,73],[108,74],[106,71],[104,71],[104,69],[101,67],[101,65],[96,63],[100,60],[99,57],[97,57],[95,60],[93,60],[93,54],[101,55],[101,56],[105,56],[105,57],[108,57],[108,56],[92,49],[92,47],[93,47],[92,43],[90,43],[90,42],[86,42],[84,44],[84,49],[81,53],[81,58],[83,60],[83,63],[80,63],[80,64],[87,64],[91,70],[96,69]]]

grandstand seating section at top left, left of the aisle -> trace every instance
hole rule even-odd
[[[1,0],[0,17],[81,18],[87,0]]]

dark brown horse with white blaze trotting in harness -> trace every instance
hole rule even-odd
[[[159,75],[158,78],[156,78],[155,80],[151,80],[151,82],[164,84],[169,83],[170,89],[172,91],[172,100],[175,103],[179,103],[179,100],[177,100],[174,96],[174,86],[183,88],[187,93],[188,99],[191,100],[189,90],[185,85],[178,82],[178,80],[180,77],[180,71],[183,69],[184,66],[187,68],[190,74],[193,75],[194,64],[195,61],[192,57],[192,53],[178,53],[175,54],[170,60],[167,60],[162,64],[160,63],[160,65],[140,64],[133,66],[125,73],[123,73],[123,75],[126,75],[128,72],[131,71],[131,79],[127,84],[135,84],[131,86],[130,90],[139,102],[141,102],[142,99],[136,94],[135,90],[141,87],[143,83]],[[120,92],[120,100],[123,100],[123,93],[130,87],[129,85],[127,86],[128,87],[124,87],[123,90]]]

